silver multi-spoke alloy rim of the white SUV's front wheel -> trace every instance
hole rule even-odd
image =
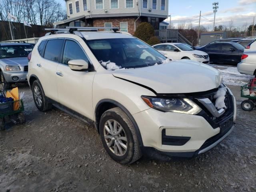
[[[127,151],[127,137],[124,129],[116,120],[108,120],[104,125],[104,138],[108,148],[117,156]]]

